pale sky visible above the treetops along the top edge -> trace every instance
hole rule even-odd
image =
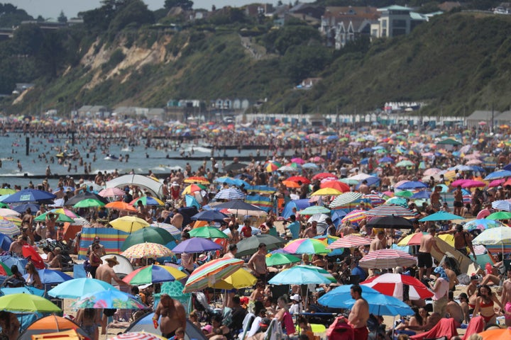
[[[151,11],[163,8],[165,0],[143,0]],[[89,9],[101,6],[101,0],[4,0],[2,3],[11,3],[14,6],[24,9],[28,14],[37,18],[39,15],[43,18],[57,18],[60,11],[64,11],[67,18],[74,18],[78,12],[88,11]],[[266,2],[276,4],[277,0],[193,0],[194,8],[205,8],[211,10],[211,6],[216,8],[223,6],[243,6],[254,2]],[[285,1],[282,1],[285,2]],[[302,0],[301,2],[312,2],[312,0]],[[294,3],[294,1],[293,1]]]

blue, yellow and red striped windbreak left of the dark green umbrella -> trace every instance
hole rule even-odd
[[[99,236],[99,243],[103,244],[105,247],[106,254],[119,254],[121,252],[121,246],[129,234],[113,228],[84,227],[79,244],[78,259],[87,259],[87,249],[89,249],[89,246],[96,236]]]

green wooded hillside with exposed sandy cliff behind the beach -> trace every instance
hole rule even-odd
[[[35,83],[5,98],[2,111],[63,115],[82,105],[163,107],[171,98],[266,99],[258,111],[276,113],[360,113],[386,101],[422,101],[424,114],[443,115],[511,106],[511,16],[448,13],[409,36],[334,51],[300,21],[275,28],[230,8],[175,29],[179,17],[126,2],[106,23],[97,9],[84,16],[88,25],[26,26],[0,42],[0,91]],[[295,90],[307,77],[322,81]]]

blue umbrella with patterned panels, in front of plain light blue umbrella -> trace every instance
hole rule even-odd
[[[131,294],[123,293],[117,289],[99,290],[82,295],[79,300],[72,302],[71,308],[119,309],[119,310],[145,310],[146,305],[139,302]]]

